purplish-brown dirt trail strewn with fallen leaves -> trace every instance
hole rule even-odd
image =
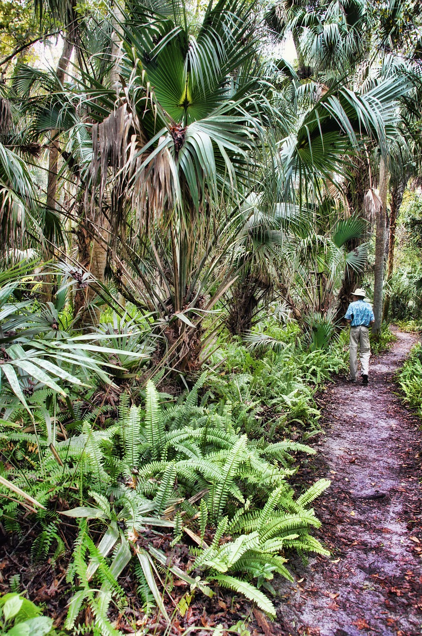
[[[304,477],[332,480],[315,506],[332,557],[293,564],[280,634],[422,633],[422,434],[393,383],[416,338],[397,337],[372,360],[369,386],[339,381],[323,398],[327,436]]]

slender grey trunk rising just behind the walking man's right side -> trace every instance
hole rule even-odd
[[[376,217],[375,237],[375,265],[374,265],[374,317],[372,333],[379,338],[381,333],[381,314],[383,312],[383,283],[384,283],[384,254],[385,254],[385,226],[387,207],[388,170],[384,159],[379,166],[379,198],[381,206]]]

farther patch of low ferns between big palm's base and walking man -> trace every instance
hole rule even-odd
[[[348,369],[348,334],[341,331],[327,349],[309,350],[297,323],[287,329],[269,323],[242,344],[222,344],[212,362],[218,374],[207,380],[211,395],[230,399],[249,435],[272,439],[299,425],[306,437],[320,430],[316,392]]]

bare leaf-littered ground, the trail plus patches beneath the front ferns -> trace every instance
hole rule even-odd
[[[327,434],[317,444],[316,457],[302,464],[295,482],[300,487],[321,477],[332,480],[315,504],[322,522],[318,536],[332,556],[310,558],[306,566],[297,556],[290,561],[295,584],[273,582],[277,621],[271,623],[262,612],[252,611],[246,599],[219,590],[212,599],[197,595],[185,616],[174,618],[168,630],[160,616],[145,621],[136,611],[136,582],[127,577],[120,582],[132,598],[129,614],[139,636],[181,635],[193,626],[198,636],[206,636],[210,632],[201,626],[229,628],[236,623],[234,633],[251,636],[422,633],[422,435],[420,420],[402,406],[393,381],[416,336],[397,333],[397,338],[389,352],[372,360],[369,386],[338,378],[320,398]],[[74,538],[73,527],[62,530]],[[66,583],[70,549],[57,562],[48,559],[34,568],[34,538],[29,525],[22,539],[15,537],[3,547],[0,591],[10,590],[10,577],[19,574],[21,589],[43,603],[55,624],[62,626],[71,596]],[[161,536],[160,548],[169,548],[171,539]],[[187,546],[184,549],[187,554]],[[179,600],[177,589],[172,595]],[[171,613],[174,607],[169,604],[168,609]],[[125,614],[117,613],[114,624],[132,632]]]

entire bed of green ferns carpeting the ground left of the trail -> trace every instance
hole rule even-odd
[[[162,582],[171,593],[176,580],[186,586],[182,615],[195,593],[212,596],[218,584],[274,616],[270,581],[291,579],[291,551],[328,555],[310,506],[329,482],[296,492],[290,481],[299,453],[314,453],[300,442],[320,432],[315,394],[346,370],[348,334],[310,350],[297,324],[269,322],[224,343],[211,370],[175,398],[151,381],[130,388],[126,345],[139,352],[131,320],[111,316],[101,329],[122,335],[115,384],[71,399],[39,386],[25,404],[3,404],[3,525],[22,537],[23,506],[37,530],[34,562],[54,562],[70,558],[59,530],[66,518],[68,630],[85,629],[88,607],[94,632],[116,635],[110,611],[127,604],[123,573],[137,581],[144,612],[158,607],[168,622]]]

